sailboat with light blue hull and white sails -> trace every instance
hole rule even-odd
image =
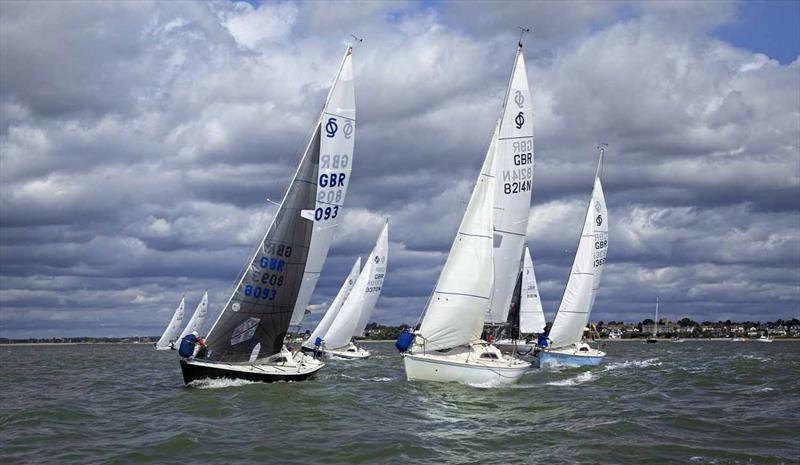
[[[600,182],[605,144],[599,150],[592,198],[586,210],[569,280],[545,341],[547,346],[540,348],[537,354],[540,367],[599,365],[606,355],[583,340],[608,252],[608,211]]]

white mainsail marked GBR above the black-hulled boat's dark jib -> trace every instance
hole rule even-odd
[[[353,83],[353,60],[348,49],[331,86],[319,125],[319,177],[311,248],[303,272],[303,282],[295,302],[290,325],[299,325],[317,286],[319,275],[333,241],[333,233],[342,217],[344,198],[350,183],[355,141],[356,105]],[[343,137],[336,137],[340,133]],[[321,221],[324,220],[324,221]]]

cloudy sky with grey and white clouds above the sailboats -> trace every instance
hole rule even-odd
[[[0,336],[213,316],[274,214],[350,34],[359,130],[330,300],[390,217],[374,321],[417,320],[517,41],[534,95],[528,242],[552,318],[595,168],[593,319],[800,316],[798,2],[0,3]],[[315,319],[309,320],[310,322]]]

